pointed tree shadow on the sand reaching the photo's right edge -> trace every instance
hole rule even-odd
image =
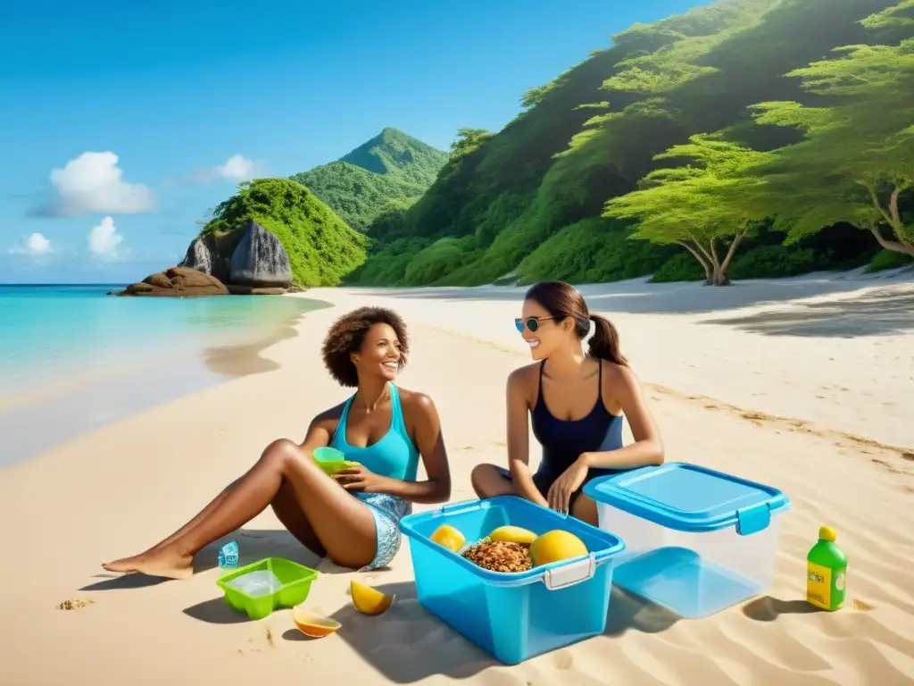
[[[826,303],[794,303],[790,311],[709,319],[768,336],[854,338],[903,334],[914,329],[914,293],[848,297]]]

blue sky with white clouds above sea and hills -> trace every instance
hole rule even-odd
[[[447,149],[635,22],[695,0],[30,0],[0,41],[0,283],[174,264],[239,180],[394,126]]]

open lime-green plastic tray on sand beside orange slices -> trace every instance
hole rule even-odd
[[[260,570],[274,573],[282,583],[282,587],[269,595],[252,597],[228,585],[232,579]],[[310,567],[293,563],[291,560],[284,560],[282,557],[268,557],[258,563],[239,567],[234,572],[219,578],[216,584],[225,593],[228,605],[247,613],[251,619],[262,619],[269,616],[275,609],[302,603],[311,592],[311,584],[316,578],[317,572]]]

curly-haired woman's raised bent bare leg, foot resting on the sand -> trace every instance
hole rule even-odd
[[[327,477],[298,445],[283,439],[269,445],[237,486],[228,490],[225,498],[217,497],[219,501],[212,509],[183,535],[104,567],[112,572],[186,578],[193,573],[194,555],[266,509],[280,492],[283,480],[335,563],[357,568],[371,562],[376,534],[367,505]]]

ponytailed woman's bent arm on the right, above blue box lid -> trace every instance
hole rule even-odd
[[[584,453],[579,461],[589,467],[617,469],[664,464],[664,442],[644,403],[641,383],[630,368],[613,366],[613,369],[616,373],[605,375],[609,377],[606,381],[632,427],[634,443],[618,450]]]

